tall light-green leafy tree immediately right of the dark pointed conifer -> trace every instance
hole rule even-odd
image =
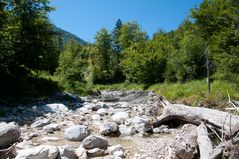
[[[122,49],[120,67],[127,81],[139,82],[141,77],[139,65],[143,61],[145,43],[148,40],[136,22],[123,24],[120,30],[119,43]],[[135,57],[135,61],[133,60]],[[137,74],[138,73],[138,74]]]

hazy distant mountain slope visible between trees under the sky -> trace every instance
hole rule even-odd
[[[61,28],[58,28],[57,26],[53,25],[54,27],[54,30],[57,32],[57,33],[60,33],[62,35],[62,38],[63,38],[63,43],[67,43],[68,41],[70,40],[75,40],[77,42],[79,42],[81,45],[87,45],[87,42],[82,40],[81,38],[79,38],[78,36],[68,32],[68,31],[65,31]]]

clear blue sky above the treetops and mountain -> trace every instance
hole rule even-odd
[[[136,21],[152,36],[159,29],[176,29],[202,0],[51,0],[49,17],[58,27],[94,42],[96,32],[112,30],[120,18]]]

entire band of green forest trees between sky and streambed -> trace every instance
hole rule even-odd
[[[95,43],[82,46],[62,43],[48,18],[54,11],[48,0],[3,0],[1,94],[49,87],[38,80],[42,72],[78,93],[94,84],[184,83],[213,75],[238,82],[238,8],[237,0],[204,0],[176,30],[159,30],[152,38],[137,22],[119,19],[113,30],[100,29]]]

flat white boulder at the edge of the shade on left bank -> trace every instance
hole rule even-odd
[[[51,113],[66,113],[69,109],[61,103],[46,104],[43,106],[43,109]]]

